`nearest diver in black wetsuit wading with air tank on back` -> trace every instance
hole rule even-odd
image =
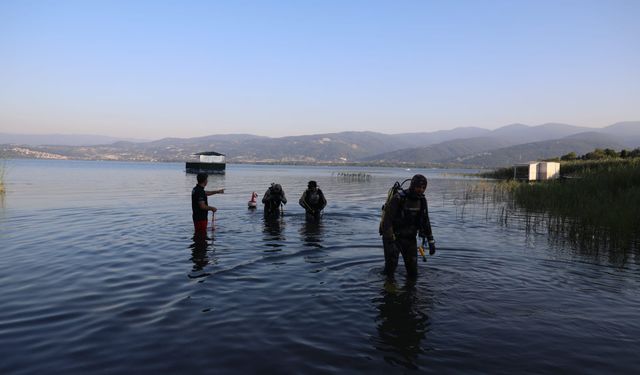
[[[404,259],[407,277],[415,279],[418,276],[416,234],[429,241],[430,255],[436,252],[424,196],[426,189],[427,178],[417,174],[411,179],[409,189],[398,189],[384,207],[380,234],[384,245],[384,273],[389,278],[394,277],[399,254]]]

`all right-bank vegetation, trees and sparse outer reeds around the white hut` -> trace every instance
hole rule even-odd
[[[562,179],[518,182],[512,178],[512,168],[503,168],[491,175],[502,176],[503,181],[479,188],[491,186],[489,191],[467,194],[483,201],[490,196],[493,202],[544,218],[549,233],[568,235],[582,247],[639,249],[640,157],[636,154],[640,151],[588,156],[602,154],[597,151],[560,158]]]

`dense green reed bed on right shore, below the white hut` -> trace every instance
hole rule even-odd
[[[498,185],[516,206],[572,223],[570,230],[604,232],[611,241],[640,237],[640,158],[569,162],[561,171],[577,178]]]

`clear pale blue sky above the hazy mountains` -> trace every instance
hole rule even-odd
[[[640,1],[0,1],[0,132],[640,120]]]

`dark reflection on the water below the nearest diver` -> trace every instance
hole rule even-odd
[[[373,300],[378,310],[374,346],[389,364],[418,369],[416,360],[425,352],[423,340],[429,332],[431,303],[425,294],[411,281],[399,288],[387,280],[380,296]]]

